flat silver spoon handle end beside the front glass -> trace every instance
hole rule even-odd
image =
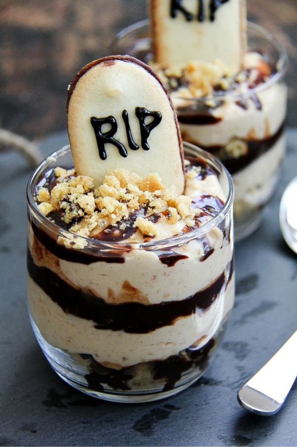
[[[297,377],[297,331],[239,390],[248,411],[270,416],[282,407]]]

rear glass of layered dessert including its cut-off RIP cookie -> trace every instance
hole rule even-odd
[[[245,46],[241,0],[219,2],[213,15],[212,2],[200,2],[203,16],[194,0],[178,2],[174,16],[172,2],[150,3],[151,39],[141,22],[119,34],[113,51],[151,64],[171,93],[183,140],[214,154],[232,174],[240,240],[260,223],[285,152],[286,51],[251,23]]]

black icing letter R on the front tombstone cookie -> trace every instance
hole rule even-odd
[[[106,150],[105,150],[105,144],[110,143],[113,146],[115,146],[119,154],[122,155],[122,157],[127,156],[127,150],[122,143],[117,141],[115,138],[113,138],[114,134],[117,131],[117,122],[113,116],[106,116],[105,118],[96,118],[95,116],[91,117],[91,124],[93,126],[97,146],[99,150],[99,156],[101,160],[106,160]],[[110,124],[111,128],[107,132],[102,132],[102,126],[104,124]]]

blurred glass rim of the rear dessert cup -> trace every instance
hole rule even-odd
[[[149,20],[148,19],[144,19],[144,20],[140,20],[139,22],[135,22],[129,26],[127,26],[126,28],[123,28],[121,31],[119,31],[116,35],[116,37],[114,38],[110,49],[112,52],[112,49],[115,47],[115,45],[117,44],[117,42],[120,41],[120,39],[126,37],[127,35],[129,35],[130,33],[137,31],[141,28],[147,28],[147,31],[149,30]],[[257,93],[260,93],[264,90],[266,90],[267,88],[269,88],[271,85],[275,84],[277,81],[279,81],[280,79],[282,79],[284,77],[284,75],[287,72],[288,69],[288,62],[289,62],[289,57],[288,57],[288,53],[286,48],[269,32],[267,31],[265,28],[263,28],[262,26],[250,22],[247,20],[247,43],[248,43],[248,31],[255,31],[257,32],[261,38],[265,39],[266,41],[269,41],[274,48],[278,51],[278,60],[276,62],[276,68],[277,68],[277,72],[274,73],[270,78],[267,79],[267,81],[257,85],[256,87],[253,87],[252,89],[248,89],[247,92],[242,92],[242,93],[232,93],[232,92],[222,92],[222,93],[218,93],[216,95],[209,95],[207,97],[199,97],[199,98],[184,98],[183,96],[179,96],[179,95],[175,95],[176,99],[183,99],[189,102],[205,102],[205,101],[209,101],[209,100],[216,100],[216,99],[226,99],[226,98],[232,98],[232,99],[242,99],[242,98],[247,98],[247,97],[251,97],[252,95],[256,95]],[[148,36],[146,36],[145,38],[150,40],[150,36],[148,33]],[[170,92],[170,95],[175,94],[175,92]]]

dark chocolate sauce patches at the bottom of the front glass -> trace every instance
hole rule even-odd
[[[165,385],[163,391],[172,390],[175,384],[181,379],[183,373],[189,370],[200,368],[204,371],[209,362],[209,351],[214,348],[215,340],[212,338],[200,349],[185,349],[178,355],[171,355],[166,360],[158,360],[149,362],[153,368],[153,380],[164,379]],[[83,358],[85,354],[81,354]],[[104,385],[113,390],[130,391],[131,387],[128,381],[136,376],[135,367],[123,368],[116,370],[106,368],[97,363],[92,356],[90,364],[90,374],[86,374],[85,378],[92,390],[103,392]],[[137,365],[136,365],[137,366]]]

